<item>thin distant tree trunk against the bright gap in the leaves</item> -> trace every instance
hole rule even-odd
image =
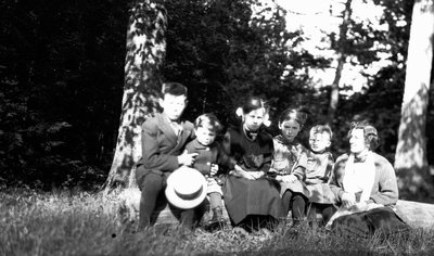
[[[342,24],[340,27],[340,37],[337,39],[337,66],[334,75],[334,80],[331,86],[330,92],[330,104],[328,111],[328,120],[333,121],[334,114],[336,113],[339,94],[340,94],[340,81],[342,76],[342,71],[344,69],[344,64],[346,60],[346,34],[348,31],[348,23],[352,18],[352,0],[345,2],[345,10],[342,12]]]

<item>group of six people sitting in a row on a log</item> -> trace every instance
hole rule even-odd
[[[298,141],[308,117],[304,112],[283,111],[280,135],[272,138],[264,129],[264,101],[251,97],[237,111],[241,125],[229,127],[216,140],[224,128],[218,118],[203,114],[194,124],[182,120],[187,103],[183,85],[164,84],[163,113],[142,125],[142,157],[136,170],[140,229],[152,225],[152,213],[164,192],[177,199],[169,202],[181,209],[180,222],[189,229],[197,225],[204,194],[213,213],[207,227],[225,223],[226,207],[231,225],[247,232],[273,229],[289,213],[294,228],[326,226],[362,236],[407,229],[394,212],[396,176],[391,163],[374,153],[379,136],[372,125],[352,123],[349,153],[334,161],[328,125],[310,129],[309,149]],[[184,166],[184,172],[178,171]],[[200,180],[194,175],[181,181],[189,169],[201,174],[206,191],[193,184]],[[184,184],[177,191],[176,182]]]

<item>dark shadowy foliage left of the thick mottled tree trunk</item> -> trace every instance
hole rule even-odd
[[[2,1],[4,182],[86,187],[104,179],[124,79],[123,2]]]

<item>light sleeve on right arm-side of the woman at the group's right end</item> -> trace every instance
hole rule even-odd
[[[382,161],[379,167],[381,168],[379,192],[371,194],[370,199],[376,204],[394,205],[398,201],[398,184],[395,170],[386,159]]]

